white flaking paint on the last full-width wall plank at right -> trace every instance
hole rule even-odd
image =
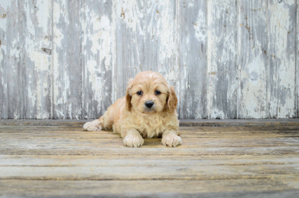
[[[268,92],[269,98],[269,114],[271,117],[277,118],[290,118],[296,115],[294,107],[294,93],[295,93],[295,53],[288,52],[287,42],[289,39],[289,33],[292,29],[290,21],[293,13],[290,13],[290,5],[294,4],[294,1],[286,2],[274,2],[270,6],[270,34],[275,35],[276,42],[270,43],[270,48],[275,49],[275,54],[269,54],[270,59],[280,65],[278,70],[274,71],[272,80],[275,83],[277,90],[281,90],[284,101],[281,101],[281,96],[277,98],[277,95],[273,92],[271,95]],[[273,50],[272,50],[273,51]],[[285,92],[286,90],[289,90]],[[269,90],[270,91],[270,90]],[[280,93],[280,94],[281,94]]]

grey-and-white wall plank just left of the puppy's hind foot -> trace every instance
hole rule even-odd
[[[53,115],[82,118],[81,4],[53,0]]]

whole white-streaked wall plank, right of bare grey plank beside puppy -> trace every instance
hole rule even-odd
[[[236,19],[236,1],[207,1],[207,111],[203,117],[237,118]]]

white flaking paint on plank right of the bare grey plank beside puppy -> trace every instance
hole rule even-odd
[[[215,118],[213,109],[217,106],[218,101],[214,100],[214,95],[219,91],[226,91],[226,102],[232,106],[236,104],[234,98],[236,98],[237,84],[236,79],[229,78],[229,67],[234,66],[236,55],[235,45],[235,1],[222,0],[222,1],[208,1],[207,2],[207,116],[208,118]],[[224,20],[225,19],[225,20]],[[223,25],[219,22],[223,22]],[[222,43],[221,49],[216,46]],[[218,64],[222,64],[225,73],[218,73]],[[230,71],[234,72],[234,71]],[[227,90],[217,90],[216,85],[219,79],[217,76],[225,76],[227,81],[231,84],[227,87]],[[223,101],[223,99],[221,99]],[[220,102],[220,101],[219,101]],[[224,107],[223,107],[224,108]],[[230,109],[229,111],[231,111]],[[218,110],[217,112],[222,111]],[[229,112],[226,112],[230,114]],[[227,117],[225,115],[224,117]]]

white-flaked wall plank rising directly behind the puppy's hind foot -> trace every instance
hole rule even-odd
[[[102,116],[113,103],[112,0],[82,2],[82,117]]]

